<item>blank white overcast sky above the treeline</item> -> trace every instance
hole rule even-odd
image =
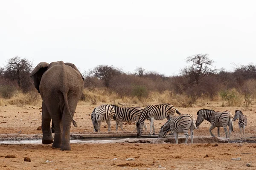
[[[0,1],[2,67],[18,55],[34,66],[63,60],[81,72],[104,64],[171,76],[200,53],[216,68],[256,64],[256,1]]]

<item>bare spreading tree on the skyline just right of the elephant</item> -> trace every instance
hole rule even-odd
[[[122,71],[119,68],[114,67],[113,65],[98,65],[92,70],[89,70],[89,75],[93,75],[95,77],[98,77],[99,79],[102,79],[104,82],[105,87],[109,87],[111,79],[121,74]]]

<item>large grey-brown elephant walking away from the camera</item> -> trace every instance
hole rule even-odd
[[[71,150],[70,125],[77,103],[84,89],[84,77],[70,62],[40,62],[32,71],[31,78],[42,97],[42,144],[52,144],[61,150]],[[52,129],[55,131],[54,140]]]

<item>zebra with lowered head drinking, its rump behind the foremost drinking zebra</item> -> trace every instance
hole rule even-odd
[[[148,105],[140,114],[139,121],[137,122],[137,136],[141,136],[143,133],[143,124],[145,123],[145,119],[150,120],[150,133],[152,134],[153,128],[153,135],[155,135],[154,129],[154,119],[156,120],[163,120],[163,119],[170,119],[174,113],[181,114],[173,105],[171,104],[160,104],[160,105]]]

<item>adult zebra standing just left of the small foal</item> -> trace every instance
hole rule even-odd
[[[226,138],[230,137],[231,130],[234,131],[233,121],[229,111],[215,112],[214,110],[201,109],[198,111],[197,115],[198,117],[195,123],[196,127],[198,127],[204,121],[204,119],[206,119],[211,123],[211,127],[209,129],[211,136],[215,136],[212,134],[212,129],[215,127],[218,128],[218,137],[220,137],[220,127],[224,128]],[[229,133],[227,133],[227,125],[229,128]]]

